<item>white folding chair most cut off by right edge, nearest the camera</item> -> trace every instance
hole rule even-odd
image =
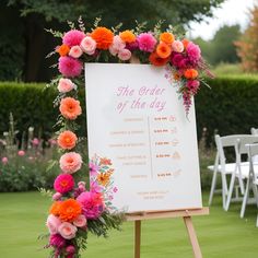
[[[254,159],[253,159],[254,156],[258,155],[258,144],[257,143],[247,144],[246,149],[247,149],[248,157],[249,157],[249,173],[248,173],[245,195],[242,202],[241,218],[244,218],[245,215],[246,204],[249,199],[250,189],[253,189],[256,204],[258,208],[258,163],[254,162]],[[256,220],[256,226],[258,226],[258,214],[257,214],[257,220]]]

